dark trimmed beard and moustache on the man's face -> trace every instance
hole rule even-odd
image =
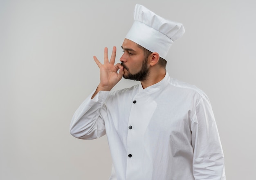
[[[122,62],[121,65],[124,67],[124,69],[126,69],[128,71],[128,74],[124,74],[124,78],[125,79],[130,79],[130,80],[135,80],[135,81],[144,81],[148,78],[148,75],[149,75],[149,68],[148,68],[148,65],[147,65],[147,59],[148,58],[145,58],[145,60],[143,61],[142,63],[142,67],[141,69],[139,70],[139,72],[135,73],[135,74],[131,74],[129,72],[129,69],[128,67],[126,67],[126,65]]]

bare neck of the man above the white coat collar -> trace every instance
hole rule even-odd
[[[166,69],[161,68],[157,70],[151,70],[148,78],[144,81],[141,81],[142,88],[145,89],[147,87],[152,86],[153,84],[156,84],[157,82],[160,82],[162,79],[164,79],[164,76],[166,74]]]

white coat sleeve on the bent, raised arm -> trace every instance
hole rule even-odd
[[[76,110],[70,124],[70,133],[79,139],[91,140],[106,134],[103,120],[106,116],[104,102],[109,91],[100,91],[91,99],[92,94]]]

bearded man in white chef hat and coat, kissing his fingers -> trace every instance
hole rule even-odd
[[[207,96],[171,79],[165,69],[182,24],[136,4],[135,22],[115,64],[116,47],[100,69],[97,89],[76,110],[70,133],[94,139],[107,134],[113,160],[110,180],[225,180],[220,138]],[[121,78],[141,83],[110,92]]]

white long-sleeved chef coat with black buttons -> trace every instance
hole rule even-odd
[[[166,72],[146,89],[92,94],[74,113],[70,133],[87,140],[107,134],[110,180],[225,180],[211,104],[197,87]]]

